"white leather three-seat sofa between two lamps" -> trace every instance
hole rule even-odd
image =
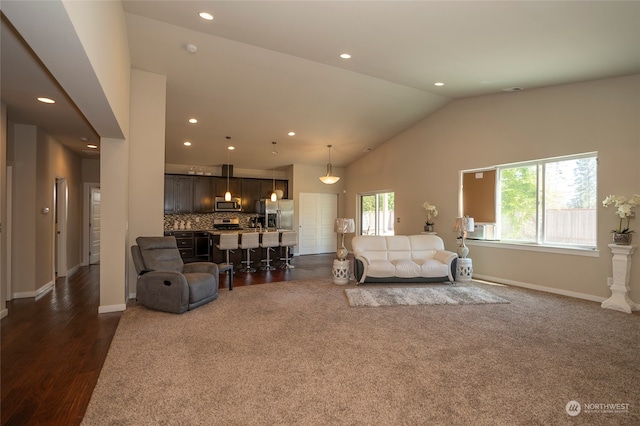
[[[358,235],[351,247],[358,284],[455,281],[458,255],[437,235]]]

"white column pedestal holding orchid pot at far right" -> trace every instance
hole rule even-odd
[[[629,298],[629,277],[631,275],[631,255],[637,246],[609,244],[613,259],[613,282],[611,297],[602,302],[602,307],[626,312],[640,310],[640,305]]]

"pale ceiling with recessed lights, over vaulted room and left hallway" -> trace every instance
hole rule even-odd
[[[323,165],[331,144],[344,166],[453,99],[640,72],[638,1],[122,4],[132,67],[167,76],[171,164],[220,165],[231,143],[239,168]],[[87,151],[91,126],[5,19],[1,36],[10,119]],[[56,110],[32,102],[47,85]]]

